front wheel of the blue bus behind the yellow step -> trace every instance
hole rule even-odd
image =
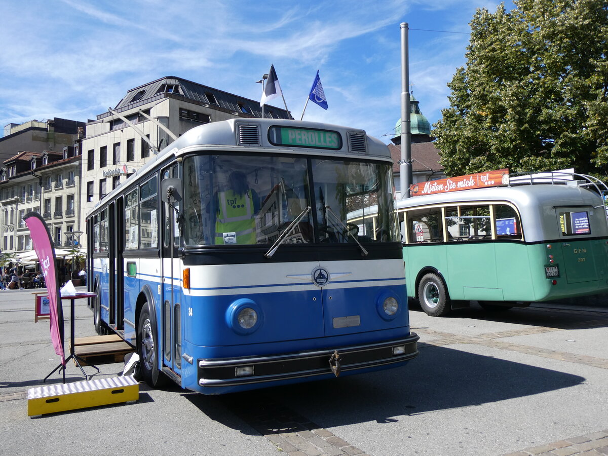
[[[137,325],[137,353],[143,379],[153,388],[167,384],[167,377],[158,368],[157,342],[156,321],[150,312],[150,303],[145,303]]]

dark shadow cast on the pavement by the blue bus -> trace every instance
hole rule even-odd
[[[405,367],[255,392],[193,395],[189,399],[213,420],[250,434],[248,426],[234,427],[226,409],[258,429],[255,421],[260,420],[260,410],[264,419],[279,423],[275,427],[286,421],[286,429],[293,416],[305,416],[316,421],[318,427],[391,423],[403,416],[480,406],[584,381],[581,376],[519,362],[446,347],[425,347],[423,354]]]

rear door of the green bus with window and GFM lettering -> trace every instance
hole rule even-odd
[[[603,209],[601,209],[603,210]],[[584,239],[592,235],[590,218],[593,208],[587,207],[558,207],[555,209],[561,229],[561,249],[564,264],[558,264],[558,269],[550,269],[547,274],[565,274],[568,283],[592,282],[598,280],[594,250],[599,241]],[[602,250],[598,250],[600,252]],[[547,277],[550,277],[547,275]],[[559,277],[555,275],[554,277]]]

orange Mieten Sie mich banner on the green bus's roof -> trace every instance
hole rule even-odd
[[[455,192],[471,188],[495,187],[509,183],[509,170],[486,171],[485,173],[467,174],[437,181],[420,182],[410,185],[410,195],[432,195],[433,193]]]

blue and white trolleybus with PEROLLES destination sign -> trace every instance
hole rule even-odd
[[[391,168],[353,128],[193,128],[87,215],[95,329],[136,347],[152,387],[205,394],[406,364]],[[370,204],[373,237],[346,219]]]

